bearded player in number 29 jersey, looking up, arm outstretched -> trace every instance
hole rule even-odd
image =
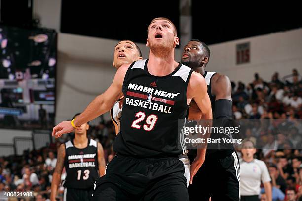
[[[56,137],[71,132],[125,96],[120,132],[113,145],[117,155],[108,164],[106,175],[96,181],[93,201],[189,201],[184,164],[178,158],[186,152],[178,120],[186,118],[191,100],[206,119],[212,118],[212,112],[204,78],[174,60],[178,44],[174,24],[166,18],[153,19],[146,44],[149,59],[122,65],[109,89],[76,120],[53,128]],[[191,180],[203,160],[198,150]]]

